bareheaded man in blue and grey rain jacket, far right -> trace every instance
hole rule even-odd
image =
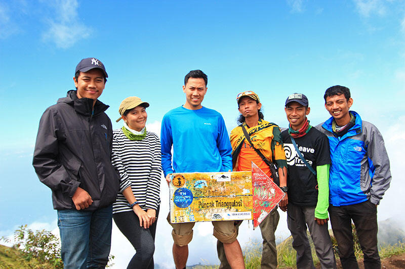
[[[381,268],[377,205],[391,181],[383,137],[377,127],[349,111],[353,99],[347,87],[330,87],[323,98],[332,117],[317,129],[329,138],[329,214],[342,266],[358,268],[353,251],[353,221],[365,268]]]

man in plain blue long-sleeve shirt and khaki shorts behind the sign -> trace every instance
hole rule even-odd
[[[184,78],[185,104],[169,111],[163,118],[160,134],[161,166],[168,182],[168,174],[171,173],[227,172],[232,169],[232,147],[225,122],[221,114],[201,105],[207,93],[207,81],[203,71],[190,71]],[[225,254],[232,268],[245,268],[233,223],[213,222],[214,236],[224,243]],[[173,227],[176,268],[185,268],[194,223],[170,225]]]

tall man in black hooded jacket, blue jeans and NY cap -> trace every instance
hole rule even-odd
[[[112,126],[100,102],[107,82],[100,60],[80,61],[76,90],[44,112],[32,165],[52,190],[65,268],[104,268],[111,246],[119,175],[111,164]]]

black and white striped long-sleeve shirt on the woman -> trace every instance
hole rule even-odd
[[[161,177],[159,138],[148,131],[144,139],[135,141],[128,139],[122,129],[113,134],[112,164],[119,171],[121,184],[112,212],[132,211],[122,193],[129,186],[142,209],[157,209]]]

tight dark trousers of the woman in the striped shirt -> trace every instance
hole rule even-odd
[[[153,253],[155,251],[155,234],[159,207],[156,210],[156,221],[148,228],[139,226],[139,218],[134,211],[115,213],[112,215],[119,231],[134,246],[136,253],[128,264],[130,268],[153,269]]]

